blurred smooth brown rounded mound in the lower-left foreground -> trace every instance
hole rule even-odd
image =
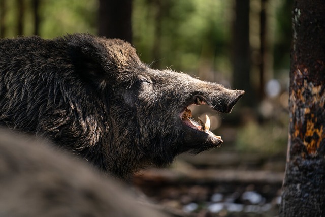
[[[165,216],[44,142],[0,129],[0,216]]]

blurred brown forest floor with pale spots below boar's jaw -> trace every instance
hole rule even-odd
[[[220,148],[182,154],[169,168],[134,176],[137,189],[173,216],[277,216],[285,154]]]

